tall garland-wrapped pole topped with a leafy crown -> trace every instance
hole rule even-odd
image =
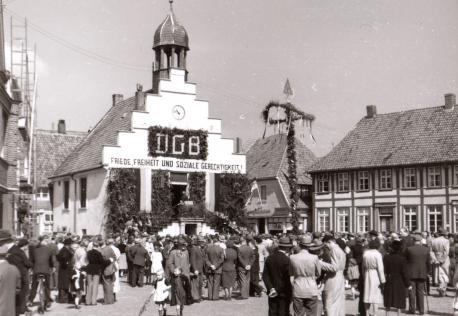
[[[272,108],[281,109],[285,113],[285,118],[272,118],[270,117],[270,110]],[[264,110],[261,112],[261,118],[267,127],[269,125],[280,125],[286,124],[288,135],[287,135],[287,147],[286,147],[286,158],[288,160],[288,185],[290,189],[290,207],[291,207],[291,225],[293,226],[294,233],[299,233],[299,222],[300,216],[297,211],[297,203],[299,202],[299,192],[297,185],[297,156],[296,156],[296,131],[295,122],[302,121],[312,124],[315,120],[315,116],[307,114],[297,109],[290,102],[279,103],[277,101],[270,101],[266,105]],[[266,134],[264,129],[263,138]]]

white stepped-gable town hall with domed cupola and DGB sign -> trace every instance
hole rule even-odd
[[[209,103],[196,98],[188,81],[189,39],[171,8],[154,34],[152,89],[137,84],[134,97],[113,95],[107,113],[51,176],[55,230],[103,234],[107,184],[113,169],[139,170],[139,205],[152,209],[152,173],[170,176],[174,204],[189,194],[189,175],[205,175],[205,206],[215,211],[220,173],[245,173],[245,155],[222,137],[222,122],[210,118]],[[193,233],[206,233],[197,224]],[[184,233],[175,223],[167,233]]]

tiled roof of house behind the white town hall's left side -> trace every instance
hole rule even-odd
[[[36,131],[36,158],[32,168],[38,187],[48,185],[48,178],[86,136],[86,132],[67,131],[61,134],[50,130]]]

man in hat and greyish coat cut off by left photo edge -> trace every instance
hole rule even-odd
[[[16,293],[21,289],[21,274],[7,260],[8,250],[14,242],[8,230],[0,229],[0,315],[14,316],[16,313]]]

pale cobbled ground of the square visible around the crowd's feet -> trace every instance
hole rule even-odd
[[[151,292],[151,286],[143,288],[131,288],[122,283],[121,293],[118,294],[118,302],[113,305],[82,306],[77,310],[72,305],[53,303],[51,309],[45,315],[50,316],[137,316],[143,303],[147,300]],[[452,291],[449,291],[449,297],[438,297],[432,290],[432,295],[428,297],[430,312],[427,315],[452,315],[453,297]],[[349,293],[347,293],[349,294]],[[102,298],[102,287],[99,289],[99,297]],[[153,303],[147,305],[147,311],[144,316],[157,316],[158,312]],[[426,306],[425,306],[426,308]],[[32,307],[36,310],[36,307]],[[267,316],[267,298],[264,295],[261,298],[250,298],[248,300],[228,301],[203,301],[198,304],[185,306],[185,316]],[[350,295],[346,301],[346,315],[356,315],[357,300],[352,301]],[[174,307],[168,307],[168,315],[176,315]],[[401,313],[406,315],[405,313]],[[38,315],[36,311],[33,315]],[[380,308],[379,315],[385,315],[385,310]],[[396,315],[393,310],[389,315]]]

